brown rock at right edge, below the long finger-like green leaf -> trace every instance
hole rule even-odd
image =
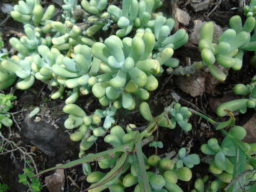
[[[246,130],[246,136],[242,140],[243,142],[247,143],[255,143],[256,142],[256,114],[254,113],[253,116],[247,120],[245,124],[242,126]]]

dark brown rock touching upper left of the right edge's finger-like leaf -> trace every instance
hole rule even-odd
[[[223,94],[222,98],[210,98],[209,104],[212,109],[212,111],[215,113],[217,107],[221,103],[225,103],[231,100],[239,99],[239,96],[236,95],[233,91],[227,91],[225,94]]]

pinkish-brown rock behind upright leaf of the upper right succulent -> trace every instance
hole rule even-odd
[[[195,45],[198,45],[199,43],[200,31],[204,23],[205,21],[202,22],[201,20],[194,21],[195,26],[193,29],[193,33],[190,35],[190,42],[194,43]],[[216,23],[214,23],[213,43],[218,43],[218,39],[222,33],[223,33],[222,28]]]

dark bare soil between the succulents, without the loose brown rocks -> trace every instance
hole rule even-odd
[[[44,0],[42,2],[43,5],[53,3],[60,9],[60,6],[57,3],[59,1]],[[166,0],[163,2],[164,5],[161,11],[166,15],[171,15],[172,9],[169,1]],[[3,0],[0,2],[0,23],[8,17],[7,14],[1,12],[2,3],[15,3],[15,1]],[[228,26],[228,20],[231,16],[240,14],[238,9],[234,9],[234,7],[238,7],[238,1],[223,0],[219,7],[207,17],[207,14],[213,10],[216,4],[217,1],[211,0],[208,9],[194,12],[189,1],[178,1],[177,6],[179,9],[187,11],[191,17],[189,26],[185,27],[179,25],[179,28],[185,28],[190,35],[194,28],[193,21],[195,20],[211,20],[224,28]],[[9,50],[11,46],[8,43],[8,40],[13,36],[17,37],[23,33],[22,25],[12,18],[9,18],[4,25],[0,26],[0,30],[3,33],[5,47]],[[100,34],[100,36],[104,39],[108,34],[109,31],[106,31],[103,34]],[[201,60],[200,52],[195,46],[190,45],[187,44],[175,51],[174,57],[181,61],[180,63],[182,66],[188,65],[188,58],[191,63],[193,63],[193,61]],[[203,91],[203,93],[197,97],[191,97],[189,94],[182,92],[177,83],[174,83],[174,80],[177,77],[173,76],[172,78],[169,78],[169,75],[164,73],[159,77],[159,82],[161,83],[159,84],[158,89],[151,92],[151,96],[148,99],[153,115],[162,113],[164,107],[170,105],[173,101],[173,93],[175,93],[181,98],[179,101],[181,105],[193,109],[200,109],[204,114],[207,114],[214,119],[219,119],[220,121],[225,120],[225,118],[220,119],[215,115],[214,111],[211,110],[209,100],[221,98],[223,94],[230,91],[231,87],[237,83],[250,83],[251,77],[255,74],[255,69],[249,65],[250,56],[249,53],[245,54],[243,68],[241,70],[229,70],[229,75],[225,82],[218,83],[210,92]],[[62,100],[50,99],[49,95],[51,94],[51,91],[39,81],[37,81],[33,88],[29,90],[20,91],[16,90],[15,87],[12,87],[11,89],[4,90],[4,93],[9,93],[11,90],[14,92],[14,95],[17,96],[17,100],[14,103],[15,107],[11,112],[23,109],[27,109],[27,111],[15,115],[15,119],[20,125],[21,131],[19,131],[18,127],[14,124],[11,127],[12,135],[10,140],[19,143],[20,146],[25,147],[28,151],[32,151],[35,154],[34,160],[37,169],[44,170],[48,167],[55,166],[58,163],[67,163],[77,159],[79,151],[78,142],[76,143],[69,139],[69,134],[71,132],[68,132],[63,126],[63,122],[67,118],[67,115],[62,112],[64,106],[63,101],[65,98]],[[98,100],[95,99],[93,95],[82,96],[76,103],[86,111],[86,114],[91,114],[95,109],[101,108]],[[41,108],[41,113],[37,118],[28,118],[29,111],[35,106]],[[195,106],[197,108],[195,108]],[[249,113],[252,113],[252,111],[249,111]],[[145,119],[143,119],[139,113],[138,106],[133,111],[119,110],[115,119],[118,119],[116,124],[121,125],[122,127],[125,127],[129,123],[136,124],[137,126],[146,125]],[[236,116],[236,119],[237,124],[239,125],[240,116]],[[190,118],[190,123],[193,125],[193,129],[188,133],[183,132],[179,127],[176,127],[174,130],[160,127],[158,130],[158,141],[162,141],[164,147],[158,149],[157,154],[168,153],[172,150],[177,151],[181,147],[186,147],[190,148],[190,153],[197,153],[199,156],[203,156],[200,151],[200,146],[203,143],[207,142],[207,140],[212,137],[216,137],[220,140],[223,138],[219,132],[214,132],[213,127],[197,116],[193,115]],[[5,137],[10,136],[8,135],[10,134],[10,130],[2,129],[1,131]],[[97,153],[105,150],[106,147],[110,146],[106,146],[106,143],[103,142],[102,138],[99,138],[97,140],[97,145],[93,145],[87,153]],[[155,148],[153,147],[143,147],[143,151],[145,151],[146,156],[155,154]],[[13,158],[10,154],[0,156],[0,181],[3,180],[12,192],[27,191],[27,187],[18,182],[18,174],[23,173],[22,169],[24,162],[22,162],[17,151],[13,154],[16,158]],[[92,170],[97,169],[94,163],[91,165]],[[207,167],[208,165],[205,163],[195,166],[193,168],[193,179],[190,182],[179,182],[179,186],[181,186],[184,191],[193,189],[195,179],[208,173]],[[41,177],[41,181],[43,182],[44,177],[50,174],[52,173]],[[65,170],[65,175],[66,183],[64,191],[76,192],[88,187],[81,166]],[[42,191],[49,190],[44,186]]]

